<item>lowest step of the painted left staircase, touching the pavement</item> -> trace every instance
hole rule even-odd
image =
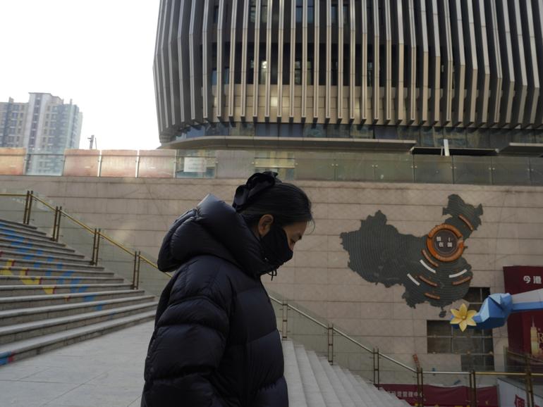
[[[147,311],[124,318],[97,323],[87,327],[74,328],[63,332],[45,335],[32,339],[25,339],[20,342],[13,342],[0,346],[0,365],[13,363],[23,358],[35,356],[39,353],[51,351],[85,339],[98,337],[108,332],[121,330],[139,323],[144,323],[154,318],[154,311]]]

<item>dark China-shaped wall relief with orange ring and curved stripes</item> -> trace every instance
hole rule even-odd
[[[481,225],[482,205],[472,206],[458,195],[443,209],[448,218],[425,236],[401,234],[377,211],[360,221],[360,229],[341,234],[349,253],[349,268],[364,280],[385,287],[401,284],[408,306],[428,302],[440,307],[462,299],[472,280],[471,265],[463,258],[466,241]]]

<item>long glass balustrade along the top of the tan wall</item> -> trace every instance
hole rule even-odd
[[[119,150],[101,154],[97,150],[67,150],[66,155],[21,155],[18,151],[10,155],[2,151],[0,158],[0,175],[244,179],[257,171],[271,170],[288,181],[543,184],[543,157],[537,156],[241,150]]]

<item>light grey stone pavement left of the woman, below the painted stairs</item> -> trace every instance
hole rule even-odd
[[[0,367],[0,406],[139,407],[153,322]]]

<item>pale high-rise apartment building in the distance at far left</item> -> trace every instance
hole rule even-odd
[[[0,102],[0,147],[24,147],[34,156],[28,170],[54,173],[62,169],[54,154],[78,148],[82,124],[83,113],[72,101],[49,93],[30,93],[27,103],[9,98]]]

